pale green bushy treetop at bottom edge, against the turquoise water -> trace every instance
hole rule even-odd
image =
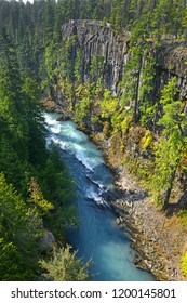
[[[70,246],[53,249],[53,258],[41,260],[40,266],[46,272],[43,276],[53,281],[85,281],[89,279],[91,262],[83,264],[77,258],[77,251],[70,253]]]

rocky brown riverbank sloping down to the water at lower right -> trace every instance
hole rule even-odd
[[[133,189],[134,185],[131,188],[130,180],[129,174],[125,177],[119,174],[118,184],[126,194],[113,207],[119,214],[118,224],[130,230],[138,252],[135,265],[148,269],[157,280],[184,280],[179,266],[187,230],[179,216],[166,216],[156,208],[151,197]]]

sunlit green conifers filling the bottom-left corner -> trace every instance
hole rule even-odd
[[[32,279],[37,269],[38,242],[43,229],[35,210],[27,209],[12,185],[0,174],[1,279]],[[8,252],[8,255],[5,254]],[[5,260],[4,260],[5,259]],[[5,261],[5,263],[4,263]],[[14,262],[17,262],[14,265]],[[16,272],[15,271],[16,267]]]

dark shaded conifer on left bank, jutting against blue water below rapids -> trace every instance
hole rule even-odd
[[[50,208],[54,205],[45,225],[56,238],[62,239],[67,228],[78,224],[78,214],[70,203],[76,198],[76,186],[55,146],[51,146],[49,159],[38,177]]]

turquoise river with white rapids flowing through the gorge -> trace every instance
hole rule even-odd
[[[112,193],[113,176],[98,148],[71,121],[56,121],[45,114],[48,144],[53,141],[62,149],[62,158],[77,184],[76,206],[80,224],[67,238],[83,261],[93,260],[93,280],[149,281],[153,277],[133,264],[135,251],[128,234],[116,224],[116,214],[106,200]]]

